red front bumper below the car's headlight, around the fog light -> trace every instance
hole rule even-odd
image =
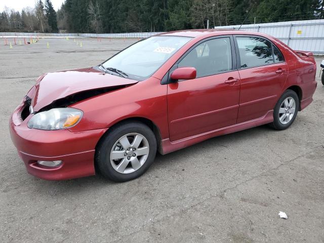
[[[27,172],[46,180],[65,180],[95,174],[95,147],[107,129],[70,132],[29,129],[21,119],[22,103],[10,118],[10,135]],[[37,160],[62,160],[58,167],[45,167]]]

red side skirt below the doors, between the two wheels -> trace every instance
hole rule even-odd
[[[163,139],[161,141],[161,145],[162,145],[162,149],[161,149],[162,153],[161,154],[167,154],[167,153],[179,150],[181,148],[185,148],[185,147],[191,146],[193,144],[202,142],[209,138],[213,138],[213,137],[217,137],[217,136],[221,136],[221,135],[225,135],[225,134],[229,134],[229,133],[234,133],[234,132],[238,132],[238,131],[242,131],[242,130],[246,130],[246,129],[250,129],[250,128],[254,128],[254,127],[258,127],[258,126],[261,126],[264,124],[271,123],[272,121],[273,121],[273,110],[269,110],[264,116],[262,116],[260,118],[253,119],[253,120],[244,121],[244,123],[239,123],[239,124],[235,124],[235,125],[232,125],[229,127],[213,130],[210,132],[197,134],[197,135],[179,139],[176,141],[170,141],[169,138]]]

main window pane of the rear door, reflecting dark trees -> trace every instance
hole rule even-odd
[[[236,37],[241,68],[273,63],[272,44],[258,37]]]

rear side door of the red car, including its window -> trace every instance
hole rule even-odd
[[[235,35],[241,80],[237,123],[273,110],[288,77],[288,65],[279,49],[256,35]]]

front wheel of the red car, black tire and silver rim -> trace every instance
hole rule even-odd
[[[141,136],[143,138],[136,147],[136,141],[140,141]],[[128,146],[129,150],[126,148]],[[133,180],[143,175],[152,165],[156,146],[156,138],[148,126],[134,121],[121,123],[112,127],[98,144],[95,155],[96,168],[104,177],[115,182]],[[118,158],[112,159],[115,157]]]

